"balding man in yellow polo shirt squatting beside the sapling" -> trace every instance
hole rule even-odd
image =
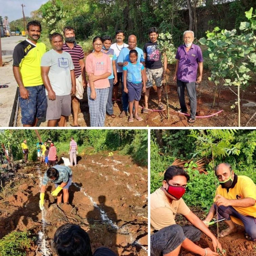
[[[248,240],[256,241],[255,184],[247,176],[237,176],[228,163],[217,165],[215,174],[220,185],[204,223],[208,226],[218,207],[218,219],[225,218],[229,226],[220,232],[221,237],[236,233],[235,222],[244,226]]]

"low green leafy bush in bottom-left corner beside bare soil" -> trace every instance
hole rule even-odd
[[[13,231],[0,240],[0,252],[2,256],[25,256],[26,250],[34,238],[29,238],[27,231]]]

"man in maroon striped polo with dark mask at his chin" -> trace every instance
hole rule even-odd
[[[84,65],[84,51],[80,45],[76,43],[74,28],[64,27],[63,34],[65,37],[65,43],[62,50],[68,52],[71,55],[74,72],[76,76],[76,95],[72,96],[72,109],[73,109],[73,124],[71,126],[78,127],[78,111],[79,100],[83,99],[84,88],[87,85],[85,77],[85,65]]]

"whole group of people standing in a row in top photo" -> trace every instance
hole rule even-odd
[[[36,126],[38,120],[46,116],[48,126],[66,126],[66,120],[73,109],[73,123],[78,127],[79,100],[83,99],[87,86],[90,126],[104,126],[106,114],[115,118],[113,107],[118,107],[118,85],[122,82],[122,108],[119,118],[130,116],[142,121],[138,114],[141,93],[145,93],[145,108],[148,113],[150,88],[153,81],[157,87],[158,109],[165,110],[162,103],[162,80],[167,69],[166,56],[158,49],[156,27],[149,29],[150,41],[143,49],[137,47],[135,35],[124,43],[124,31],[118,30],[115,43],[109,36],[94,37],[93,52],[84,62],[84,52],[76,43],[72,27],[63,28],[59,33],[49,35],[52,49],[46,52],[45,44],[38,42],[41,24],[31,21],[27,24],[28,38],[14,49],[13,72],[19,86],[19,101],[23,126]],[[191,116],[195,122],[196,84],[202,79],[202,53],[193,44],[193,31],[184,32],[184,45],[179,46],[176,54],[177,64],[174,81],[180,102],[178,112],[186,112],[184,89],[187,88]],[[163,61],[163,63],[162,63]],[[197,68],[199,76],[197,78]],[[88,83],[86,80],[88,75]],[[112,93],[113,92],[113,93]],[[112,102],[112,94],[114,101]]]

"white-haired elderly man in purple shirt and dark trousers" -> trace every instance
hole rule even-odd
[[[187,88],[190,101],[190,118],[189,123],[195,122],[196,114],[196,83],[202,81],[203,61],[202,51],[198,45],[193,44],[194,32],[187,30],[183,34],[185,44],[178,47],[176,53],[176,68],[173,80],[177,82],[177,92],[179,97],[180,109],[178,112],[187,112],[185,103],[185,87]],[[197,76],[197,68],[199,68],[199,76]]]

